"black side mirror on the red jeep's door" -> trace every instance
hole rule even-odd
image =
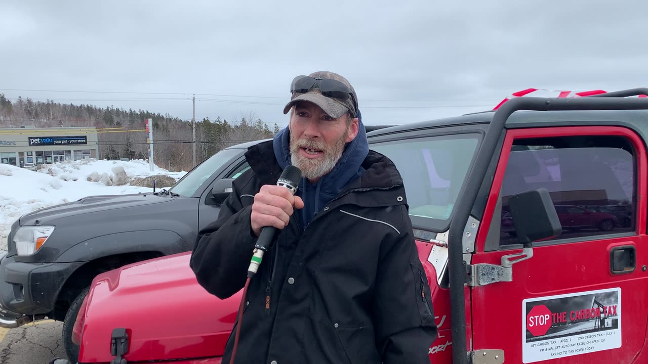
[[[546,188],[537,188],[511,196],[509,210],[518,242],[522,244],[522,253],[502,256],[502,266],[510,267],[531,258],[533,242],[562,234],[558,213]]]

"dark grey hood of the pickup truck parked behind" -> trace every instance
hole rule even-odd
[[[44,209],[25,214],[20,218],[20,225],[35,225],[34,222],[36,222],[36,220],[40,220],[41,224],[47,224],[69,216],[151,205],[168,201],[171,201],[171,198],[160,197],[149,193],[88,196],[76,201],[45,207]]]

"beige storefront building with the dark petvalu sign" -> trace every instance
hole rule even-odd
[[[97,158],[97,129],[0,129],[0,163],[19,167]]]

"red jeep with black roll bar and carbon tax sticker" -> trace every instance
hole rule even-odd
[[[410,196],[439,326],[431,363],[648,363],[648,99],[636,95],[648,89],[518,97],[369,133]],[[189,256],[99,275],[76,321],[80,363],[220,363],[240,293],[209,295]]]

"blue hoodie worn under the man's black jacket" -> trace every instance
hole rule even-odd
[[[272,143],[275,158],[281,169],[292,164],[288,126],[275,135]],[[297,195],[301,196],[304,201],[304,208],[301,209],[303,229],[306,229],[319,210],[338,196],[345,186],[362,176],[364,168],[361,165],[368,153],[369,142],[367,142],[367,134],[364,124],[362,124],[362,115],[358,110],[358,135],[347,144],[333,170],[321,177],[316,184],[310,183],[305,177],[302,177],[299,182]]]

